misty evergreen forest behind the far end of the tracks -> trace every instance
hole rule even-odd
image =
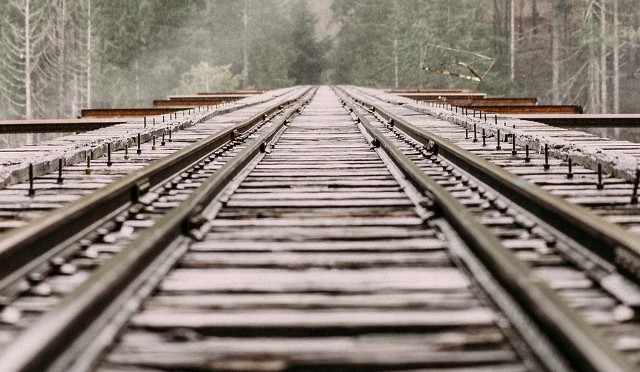
[[[320,83],[640,111],[640,0],[5,0],[0,17],[6,119]],[[495,61],[480,82],[425,69],[477,56]]]

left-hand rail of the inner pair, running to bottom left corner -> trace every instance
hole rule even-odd
[[[253,140],[207,178],[179,207],[161,217],[152,228],[141,232],[60,304],[20,334],[15,342],[0,354],[2,370],[46,370],[52,364],[59,363],[60,359],[70,359],[68,355],[64,355],[67,347],[87,329],[92,329],[92,324],[99,322],[101,315],[111,315],[110,311],[122,310],[120,294],[131,292],[131,285],[140,285],[140,277],[145,273],[145,269],[173,248],[171,242],[201,226],[198,222],[199,212],[218,196],[229,181],[255,156],[265,151],[267,144],[287,123],[287,118],[305,104],[306,101],[301,99],[292,108],[287,109],[284,118],[279,119],[266,133]],[[64,370],[64,367],[61,370]]]

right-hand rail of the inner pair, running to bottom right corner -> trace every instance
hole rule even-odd
[[[348,101],[346,92],[339,95]],[[371,105],[370,105],[371,106]],[[406,157],[363,114],[352,105],[354,115],[369,135],[387,152],[411,182],[433,196],[436,207],[462,239],[474,250],[498,281],[514,296],[567,360],[581,371],[635,371],[626,358],[610,345],[594,327],[571,309],[530,268],[505,248],[500,240],[443,187]],[[378,109],[376,109],[378,110]],[[384,116],[384,115],[383,115]],[[544,362],[544,361],[542,361]]]

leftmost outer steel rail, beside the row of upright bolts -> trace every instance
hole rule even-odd
[[[97,221],[103,221],[151,187],[166,182],[190,164],[198,162],[260,121],[295,100],[287,100],[253,115],[167,157],[150,163],[138,172],[124,176],[77,201],[57,209],[20,228],[0,235],[0,288],[20,279],[58,253],[62,245]]]

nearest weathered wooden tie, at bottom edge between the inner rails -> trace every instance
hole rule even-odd
[[[136,332],[123,337],[110,363],[162,369],[284,371],[369,370],[488,366],[486,371],[520,371],[518,357],[500,347],[496,332],[441,335],[348,337],[194,338],[170,342]],[[314,368],[315,367],[315,368]],[[501,367],[509,367],[502,369]],[[445,369],[444,371],[447,371]]]

